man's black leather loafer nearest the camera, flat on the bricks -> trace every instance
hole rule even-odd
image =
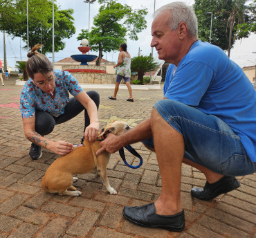
[[[139,207],[125,207],[122,214],[126,219],[139,226],[176,232],[180,232],[185,228],[184,210],[172,216],[158,215],[156,214],[154,203]]]

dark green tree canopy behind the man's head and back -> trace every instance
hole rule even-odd
[[[253,28],[249,29],[247,26],[253,24],[253,19],[255,20],[255,8],[253,13],[253,6],[247,6],[246,2],[246,0],[195,0],[194,10],[198,19],[199,39],[203,42],[209,41],[210,12],[212,12],[211,43],[230,52],[235,39],[248,37],[250,32],[253,32]],[[243,29],[244,33],[242,33]]]

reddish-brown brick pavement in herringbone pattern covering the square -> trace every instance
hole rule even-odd
[[[41,179],[57,156],[46,149],[38,161],[28,157],[30,143],[25,139],[19,113],[19,93],[15,78],[0,88],[0,238],[3,237],[256,237],[256,176],[239,177],[241,187],[213,201],[190,196],[192,186],[203,186],[203,174],[183,165],[181,197],[186,226],[181,233],[142,228],[122,217],[124,205],[143,205],[154,201],[161,192],[161,177],[156,155],[141,143],[134,145],[143,156],[138,170],[126,167],[120,156],[111,155],[109,181],[117,190],[110,195],[96,174],[78,175],[75,184],[79,197],[46,194]],[[100,93],[100,126],[113,119],[127,120],[135,126],[147,118],[152,104],[162,91],[134,91],[135,102],[127,102],[127,90],[118,92],[118,100],[108,100],[112,89]],[[48,138],[79,143],[82,137],[82,113],[57,125]],[[134,161],[127,154],[127,161]],[[136,163],[136,160],[135,160]]]

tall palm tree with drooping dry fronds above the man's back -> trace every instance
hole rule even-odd
[[[246,13],[246,2],[248,0],[232,0],[231,1],[231,10],[224,11],[227,12],[230,16],[228,17],[228,25],[227,29],[229,28],[229,36],[228,36],[228,57],[230,57],[230,50],[232,46],[232,30],[235,27],[235,23],[237,20],[237,24],[244,23],[244,15]]]

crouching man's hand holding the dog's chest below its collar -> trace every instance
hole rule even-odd
[[[107,134],[107,138],[102,140],[102,142],[100,142],[100,145],[102,146],[102,148],[98,149],[98,151],[95,152],[95,156],[98,156],[104,151],[113,154],[123,147],[120,136],[116,136],[112,133]]]

